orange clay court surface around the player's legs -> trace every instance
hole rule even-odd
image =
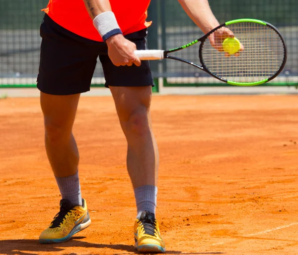
[[[166,254],[298,254],[298,97],[153,96],[157,219]],[[38,237],[61,199],[38,98],[0,100],[0,254],[135,254],[126,141],[111,97],[82,97],[74,123],[91,225]]]

